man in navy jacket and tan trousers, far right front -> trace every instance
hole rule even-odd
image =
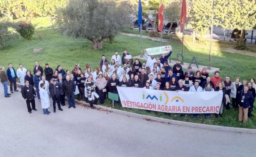
[[[239,122],[247,122],[248,119],[248,109],[253,106],[254,104],[254,97],[251,92],[248,91],[249,87],[244,86],[244,90],[241,91],[240,98],[238,101],[239,104],[239,115],[238,121]]]

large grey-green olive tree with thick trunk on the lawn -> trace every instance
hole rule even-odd
[[[129,2],[114,0],[70,0],[58,9],[59,31],[73,38],[91,40],[94,49],[130,24]]]

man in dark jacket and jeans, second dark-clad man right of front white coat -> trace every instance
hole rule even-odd
[[[62,84],[62,89],[66,96],[68,97],[69,108],[73,106],[75,108],[75,82],[70,80],[69,76],[66,76],[66,80]]]

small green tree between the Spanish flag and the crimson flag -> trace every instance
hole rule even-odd
[[[170,0],[166,5],[165,5],[165,20],[168,20],[171,22],[170,28],[168,30],[168,33],[171,31],[172,24],[174,22],[179,21],[180,16],[181,16],[181,0]]]

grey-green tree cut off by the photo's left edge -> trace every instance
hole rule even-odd
[[[3,48],[5,42],[18,38],[16,32],[17,25],[2,18],[0,20],[0,49]]]

